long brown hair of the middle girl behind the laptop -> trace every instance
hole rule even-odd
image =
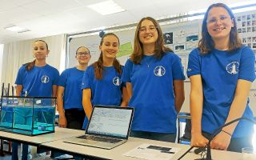
[[[113,34],[113,33],[108,33],[108,34],[104,34],[102,36],[102,40],[100,42],[100,46],[102,46],[103,44],[103,41],[104,41],[104,38],[106,38],[107,36],[110,36],[110,35],[113,35],[114,37],[118,38],[118,36],[116,34]],[[120,41],[119,41],[119,38],[118,38],[118,46],[120,45]],[[95,78],[100,80],[103,78],[103,55],[102,55],[102,52],[98,58],[98,61],[94,62],[93,64],[94,66],[94,74],[95,74]],[[114,69],[118,72],[118,74],[122,74],[122,67],[120,65],[120,63],[118,62],[118,59],[117,58],[114,58],[114,62],[113,62],[113,66],[114,66]]]

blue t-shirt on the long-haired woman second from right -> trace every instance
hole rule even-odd
[[[143,56],[141,64],[127,60],[122,82],[131,82],[134,107],[131,130],[176,133],[177,112],[174,107],[174,80],[184,80],[178,55],[167,52],[160,60]]]

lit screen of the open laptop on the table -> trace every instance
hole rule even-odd
[[[94,106],[86,134],[128,138],[133,108]]]

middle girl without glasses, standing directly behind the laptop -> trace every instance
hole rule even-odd
[[[82,106],[86,111],[83,128],[86,128],[94,105],[127,106],[126,88],[122,85],[122,66],[116,54],[119,38],[109,33],[102,36],[97,62],[88,66],[82,78]]]

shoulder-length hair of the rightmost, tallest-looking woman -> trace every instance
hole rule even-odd
[[[234,27],[232,27],[230,30],[229,51],[238,49],[239,47],[242,46],[242,42],[241,42],[241,39],[238,38],[237,23],[235,21],[232,10],[230,10],[230,8],[223,3],[212,4],[206,10],[206,14],[204,15],[204,18],[202,20],[202,38],[198,42],[198,48],[200,49],[202,54],[207,54],[211,50],[214,50],[214,41],[210,37],[210,34],[208,33],[208,30],[207,30],[207,17],[208,17],[209,11],[213,7],[222,7],[230,14],[230,18],[234,23]]]

